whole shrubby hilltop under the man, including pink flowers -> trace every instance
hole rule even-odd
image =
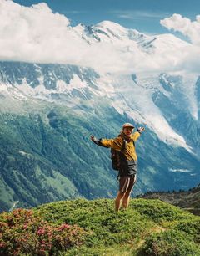
[[[0,254],[200,255],[199,217],[159,200],[113,209],[111,199],[77,199],[2,213]]]

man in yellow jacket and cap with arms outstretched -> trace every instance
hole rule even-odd
[[[115,210],[119,211],[121,207],[128,208],[131,192],[136,182],[138,156],[135,150],[135,142],[138,140],[143,127],[139,127],[133,133],[134,126],[126,123],[122,125],[122,131],[117,138],[114,139],[99,139],[91,136],[91,140],[98,146],[110,147],[119,151],[119,190],[115,200]]]

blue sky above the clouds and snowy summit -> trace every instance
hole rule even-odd
[[[53,12],[62,13],[71,25],[96,24],[102,20],[136,28],[143,33],[168,33],[159,23],[161,19],[179,13],[192,21],[200,13],[199,0],[15,0],[25,6],[47,3]]]

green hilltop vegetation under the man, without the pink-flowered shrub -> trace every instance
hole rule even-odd
[[[127,211],[114,212],[113,200],[78,199],[35,212],[55,225],[77,224],[92,232],[81,248],[63,255],[200,255],[200,218],[159,200],[134,199]]]

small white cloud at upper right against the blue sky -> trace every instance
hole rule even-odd
[[[168,29],[183,33],[193,44],[200,46],[200,15],[192,22],[189,18],[174,13],[172,17],[164,18],[160,23]]]

